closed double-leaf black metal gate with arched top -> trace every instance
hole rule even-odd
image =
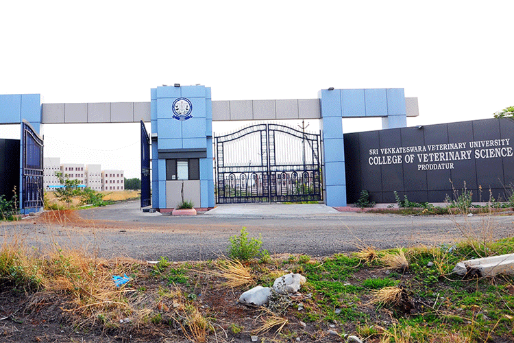
[[[217,203],[323,200],[321,134],[262,123],[215,142]]]

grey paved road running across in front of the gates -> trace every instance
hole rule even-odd
[[[196,216],[173,217],[143,213],[133,201],[77,212],[82,219],[62,220],[60,225],[34,219],[3,224],[0,235],[5,239],[15,235],[36,248],[57,242],[60,246],[95,250],[103,257],[156,260],[166,256],[173,261],[226,255],[229,237],[238,235],[243,227],[249,237],[262,234],[262,248],[271,254],[311,256],[332,255],[364,245],[394,248],[452,244],[463,238],[459,228],[476,235],[487,228],[495,238],[514,235],[511,215],[345,213],[323,205],[223,205]]]

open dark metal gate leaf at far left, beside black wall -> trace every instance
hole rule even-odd
[[[34,209],[43,206],[43,141],[27,121],[23,120],[21,125],[23,145],[21,208]]]

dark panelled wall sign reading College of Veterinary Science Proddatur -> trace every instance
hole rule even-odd
[[[347,202],[506,200],[514,187],[514,121],[483,119],[344,135]]]

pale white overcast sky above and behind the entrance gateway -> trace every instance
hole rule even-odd
[[[511,0],[2,1],[0,94],[149,102],[173,83],[209,86],[212,100],[399,87],[419,100],[408,126],[485,119],[514,105],[513,12]],[[140,176],[138,124],[43,133],[45,156]]]

